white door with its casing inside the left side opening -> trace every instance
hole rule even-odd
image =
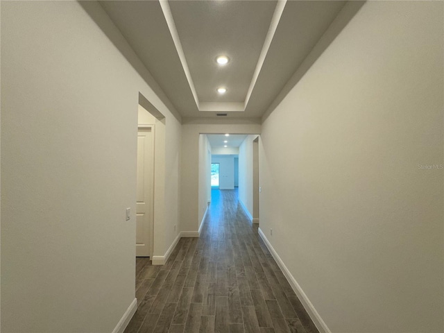
[[[154,126],[137,132],[136,256],[151,257],[153,248]]]

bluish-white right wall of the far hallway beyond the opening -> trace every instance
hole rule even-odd
[[[253,217],[253,140],[248,135],[239,146],[239,200]]]

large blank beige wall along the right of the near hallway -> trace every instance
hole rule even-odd
[[[443,6],[366,2],[263,123],[260,228],[331,332],[444,332]]]

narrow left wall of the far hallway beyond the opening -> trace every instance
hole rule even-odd
[[[211,201],[211,145],[205,134],[199,135],[199,207],[198,213],[200,230],[203,217]]]

